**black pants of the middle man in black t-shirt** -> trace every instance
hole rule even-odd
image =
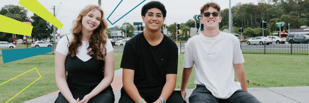
[[[161,95],[162,87],[161,88],[137,88],[139,95],[147,103],[153,103],[158,100],[158,98]],[[135,103],[131,97],[125,92],[123,88],[121,88],[121,97],[119,99],[118,103]],[[171,96],[166,100],[166,103],[187,103],[184,101],[184,99],[181,97],[180,91],[174,91]]]

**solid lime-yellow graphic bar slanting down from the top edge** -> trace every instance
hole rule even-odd
[[[55,25],[57,28],[61,29],[63,27],[63,24],[37,0],[20,0],[18,4],[40,16],[50,24]]]

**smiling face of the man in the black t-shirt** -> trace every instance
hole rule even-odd
[[[144,16],[142,16],[143,22],[145,23],[146,30],[160,31],[160,28],[165,20],[162,12],[157,8],[149,9]]]

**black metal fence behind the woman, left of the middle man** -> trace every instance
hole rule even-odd
[[[31,45],[33,44],[33,45]],[[9,46],[8,46],[9,45]],[[38,45],[38,46],[36,46]],[[28,48],[44,48],[44,47],[52,47],[52,52],[45,53],[45,54],[55,54],[57,43],[22,43],[22,44],[0,44],[0,56],[2,55],[2,50],[8,49],[28,49]],[[32,46],[32,47],[31,47]],[[123,52],[124,45],[115,45],[112,43],[114,52]]]

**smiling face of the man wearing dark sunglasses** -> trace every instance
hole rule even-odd
[[[218,10],[213,7],[209,7],[208,10],[205,10],[204,12],[213,13],[218,12]],[[221,16],[214,17],[214,15],[210,14],[209,17],[202,16],[201,23],[204,24],[205,30],[219,30],[219,23],[221,20]]]

